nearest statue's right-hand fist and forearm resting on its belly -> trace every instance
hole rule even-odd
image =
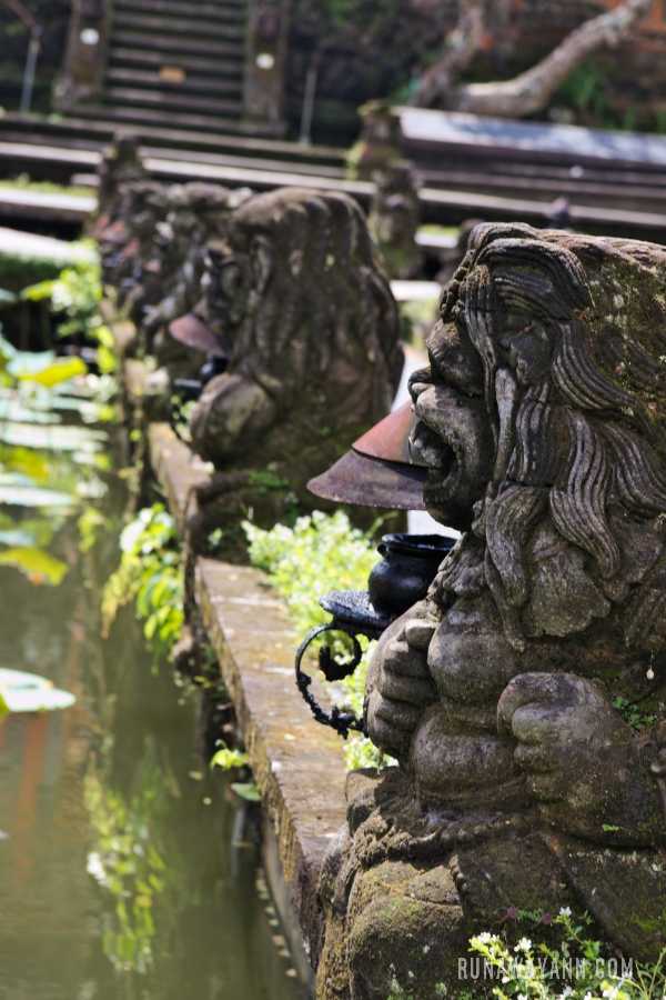
[[[569,673],[522,673],[497,707],[501,733],[548,822],[617,846],[666,840],[658,788],[606,694]]]

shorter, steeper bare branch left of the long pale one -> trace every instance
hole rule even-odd
[[[441,58],[423,74],[411,104],[432,108],[446,101],[452,83],[472,62],[485,31],[485,0],[458,0],[458,22]]]

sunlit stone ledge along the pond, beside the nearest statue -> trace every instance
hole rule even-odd
[[[343,743],[314,721],[296,690],[300,638],[262,573],[200,558],[196,600],[315,967],[323,931],[319,874],[331,840],[345,822]],[[324,698],[323,691],[315,690],[315,697]]]

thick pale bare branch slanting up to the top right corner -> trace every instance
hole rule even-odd
[[[618,46],[654,4],[655,0],[626,0],[614,10],[585,21],[545,59],[515,79],[498,83],[467,83],[450,90],[445,107],[452,111],[501,118],[521,118],[539,111],[584,59],[604,46]],[[423,107],[418,99],[415,103]]]

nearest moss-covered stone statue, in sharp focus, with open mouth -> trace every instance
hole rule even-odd
[[[666,250],[480,226],[441,313],[412,444],[463,534],[369,669],[400,766],[350,776],[322,1000],[474,989],[518,911],[666,944]]]

